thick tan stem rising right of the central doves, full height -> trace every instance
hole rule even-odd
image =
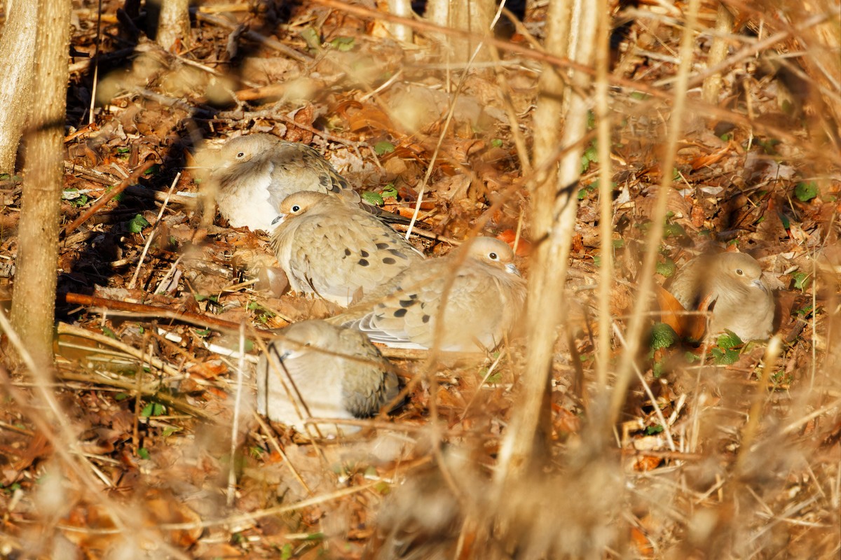
[[[575,8],[575,9],[574,9]],[[579,64],[593,59],[597,3],[553,0],[547,13],[547,51],[567,56]],[[568,43],[573,25],[579,29],[577,41]],[[546,175],[538,177],[532,188],[532,239],[538,240],[532,252],[529,292],[526,303],[526,340],[530,345],[526,371],[521,377],[510,426],[500,451],[496,481],[516,484],[524,473],[547,451],[549,409],[545,402],[552,370],[553,348],[563,309],[563,285],[566,281],[569,249],[578,208],[578,181],[581,171],[581,140],[587,132],[590,100],[577,92],[587,92],[590,77],[571,72],[576,87],[565,87],[558,72],[546,65],[540,82],[540,97],[535,113],[535,169],[546,165],[558,144],[569,147]],[[563,92],[563,102],[559,101]],[[565,111],[562,111],[565,107]],[[558,115],[564,115],[563,127]],[[563,130],[563,133],[560,131]]]

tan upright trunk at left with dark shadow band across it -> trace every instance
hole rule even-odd
[[[52,363],[56,312],[59,209],[64,176],[64,123],[70,42],[70,0],[41,0],[34,103],[26,143],[12,326],[36,364]],[[34,372],[35,373],[35,372]]]

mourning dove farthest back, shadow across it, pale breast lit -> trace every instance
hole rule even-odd
[[[300,191],[342,195],[383,221],[409,222],[362,201],[347,180],[306,144],[272,134],[247,134],[225,142],[215,160],[210,179],[218,186],[216,204],[233,228],[271,232],[280,203]]]

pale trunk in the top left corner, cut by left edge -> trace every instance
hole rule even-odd
[[[0,173],[13,173],[24,122],[32,107],[32,69],[38,3],[7,3],[0,31]]]

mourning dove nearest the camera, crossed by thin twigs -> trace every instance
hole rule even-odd
[[[315,435],[306,431],[304,419],[373,416],[398,394],[389,360],[362,332],[303,321],[282,334],[267,347],[280,371],[266,354],[257,364],[257,412],[269,420]],[[319,423],[318,429],[323,436],[337,433],[336,424]],[[345,433],[358,430],[341,427]]]

